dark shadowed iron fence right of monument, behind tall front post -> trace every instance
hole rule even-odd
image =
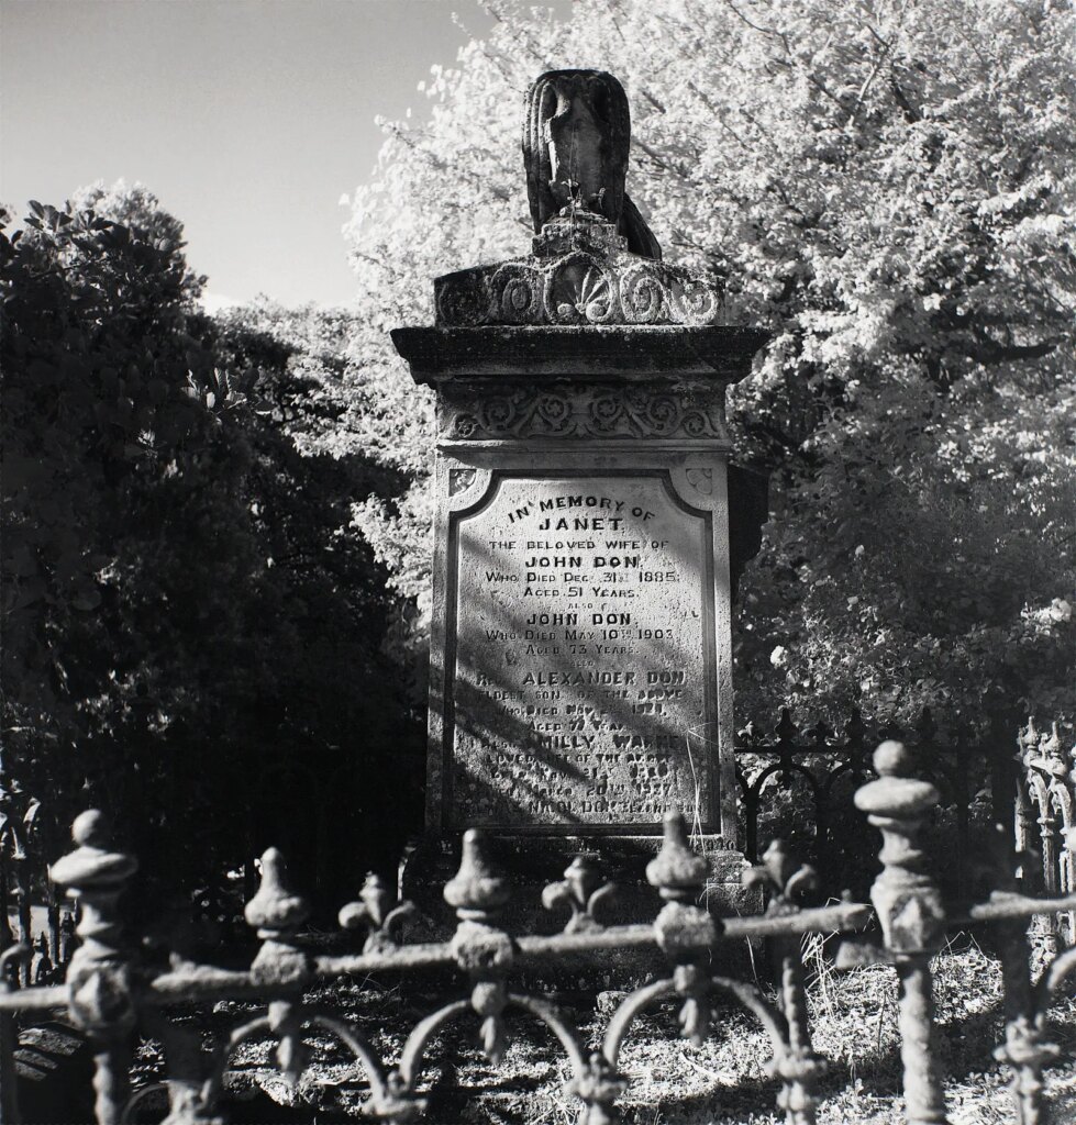
[[[956,861],[950,872],[952,889],[966,896],[976,852],[972,828],[977,800],[984,827],[1011,820],[1011,736],[1006,740],[966,724],[943,726],[929,709],[911,729],[894,722],[868,727],[857,710],[840,730],[821,721],[797,726],[787,709],[781,710],[772,731],[750,722],[736,744],[747,858],[757,861],[759,839],[768,828],[780,826],[784,835],[791,828],[795,843],[821,872],[840,872],[848,880],[827,890],[840,892],[858,884],[855,892],[866,893],[872,871],[862,863],[867,849],[852,795],[875,776],[871,748],[885,740],[902,741],[916,753],[918,773],[938,788],[939,813],[948,821]],[[986,801],[981,800],[984,793],[988,794]]]

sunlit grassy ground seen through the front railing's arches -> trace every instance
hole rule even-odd
[[[810,974],[809,1005],[816,1051],[830,1063],[819,1094],[819,1125],[900,1125],[900,1058],[897,984],[891,969],[835,972],[818,937],[804,947]],[[1002,979],[998,962],[967,934],[957,935],[933,962],[938,1051],[945,1074],[951,1125],[1003,1125],[1014,1120],[1008,1073],[994,1061],[1001,1041]],[[760,980],[761,983],[761,980]],[[772,989],[762,986],[772,997]],[[308,994],[347,1014],[386,1060],[439,996],[416,983],[406,992],[374,980],[339,981]],[[567,1008],[589,1044],[601,1042],[608,1012],[621,992],[576,994]],[[207,1036],[219,1035],[248,1010],[228,1002],[204,1017]],[[1049,1034],[1071,1058],[1076,1050],[1076,997],[1050,1011]],[[527,1019],[510,1023],[512,1038],[500,1066],[477,1047],[476,1024],[458,1024],[427,1053],[425,1119],[473,1125],[573,1125],[580,1104],[564,1089],[568,1066],[547,1032]],[[712,1029],[700,1047],[678,1035],[672,1005],[640,1018],[629,1034],[620,1069],[629,1080],[621,1100],[625,1125],[780,1125],[777,1082],[768,1077],[771,1052],[761,1027],[730,1002],[718,1002]],[[232,1059],[227,1088],[232,1120],[317,1122],[358,1117],[368,1088],[353,1061],[329,1035],[308,1036],[317,1062],[289,1089],[271,1061],[272,1045],[250,1043]],[[152,1083],[160,1058],[147,1045],[142,1079]],[[1076,1120],[1076,1063],[1047,1071],[1046,1090],[1058,1123]],[[149,1095],[149,1091],[146,1091]],[[152,1097],[144,1108],[150,1110]],[[272,1105],[271,1102],[277,1102]],[[155,1120],[137,1116],[135,1120]]]

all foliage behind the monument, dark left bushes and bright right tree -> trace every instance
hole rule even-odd
[[[387,330],[431,320],[436,274],[524,249],[519,101],[558,66],[625,82],[633,198],[771,333],[730,395],[772,482],[741,714],[1071,705],[1071,7],[491,8],[429,124],[385,124],[352,313],[201,315],[141,188],[0,235],[5,767],[52,795],[57,844],[96,801],[144,810],[132,843],[179,882],[269,839],[322,874],[395,848],[432,414]]]

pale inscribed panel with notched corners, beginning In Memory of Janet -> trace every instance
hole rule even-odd
[[[717,827],[711,534],[657,470],[494,474],[452,516],[448,827]]]

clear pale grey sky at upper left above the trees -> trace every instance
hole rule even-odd
[[[208,307],[346,304],[375,117],[424,119],[418,83],[492,24],[478,0],[0,0],[0,200],[141,181]]]

